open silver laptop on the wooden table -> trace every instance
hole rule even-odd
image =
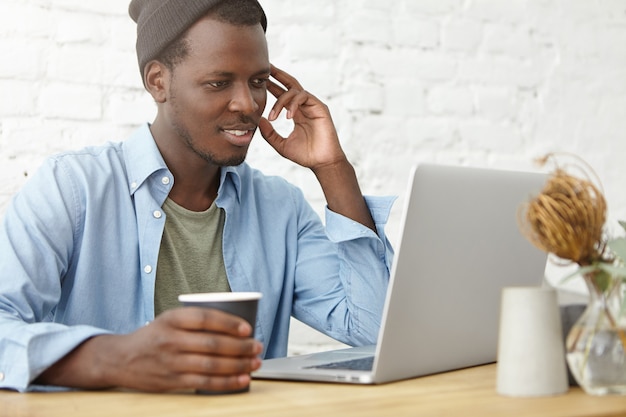
[[[545,180],[414,167],[378,344],[264,360],[253,377],[379,384],[495,362],[501,289],[543,281],[546,255],[516,216]]]

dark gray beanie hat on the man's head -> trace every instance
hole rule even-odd
[[[143,79],[146,64],[200,19],[209,9],[228,0],[132,0],[130,17],[137,23],[137,59]],[[258,4],[257,0],[253,0]],[[261,9],[261,26],[267,18]]]

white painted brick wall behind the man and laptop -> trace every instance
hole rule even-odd
[[[532,168],[567,151],[597,170],[611,220],[626,218],[626,0],[261,3],[273,62],[330,106],[364,192],[402,195],[418,161]],[[0,1],[0,212],[47,155],[152,120],[127,6]],[[249,160],[321,212],[310,173],[261,138]],[[292,340],[328,342],[300,326]]]

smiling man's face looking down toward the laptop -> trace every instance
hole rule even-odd
[[[218,166],[245,160],[265,109],[270,63],[260,25],[202,19],[188,31],[189,55],[170,75],[162,107],[177,158]]]

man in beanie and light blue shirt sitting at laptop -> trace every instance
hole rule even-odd
[[[374,343],[391,200],[365,199],[327,107],[270,64],[256,0],[133,0],[152,124],[50,158],[0,229],[0,387],[231,391],[286,354],[289,317]],[[273,78],[275,81],[270,80]],[[277,100],[262,113],[267,91]],[[281,111],[294,130],[273,128]],[[244,162],[255,130],[311,169],[327,228]],[[243,320],[183,292],[260,291]]]

